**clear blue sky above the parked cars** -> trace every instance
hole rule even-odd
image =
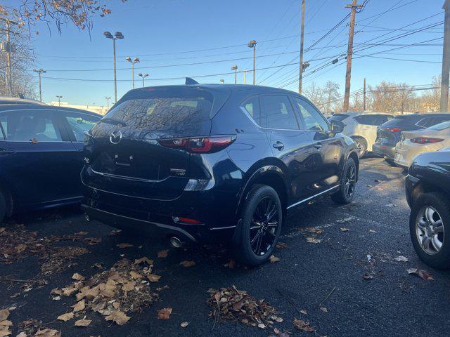
[[[126,56],[139,56],[141,63],[136,64],[136,67],[142,69],[136,69],[136,74],[150,74],[146,85],[182,84],[182,79],[161,79],[223,74],[231,72],[230,68],[235,64],[239,70],[250,70],[252,52],[246,46],[250,39],[258,41],[257,68],[298,62],[295,57],[300,49],[299,37],[296,36],[300,33],[300,0],[128,0],[125,4],[119,0],[109,2],[113,13],[106,18],[94,18],[91,38],[88,32],[80,32],[71,25],[63,27],[61,35],[54,26],[51,26],[52,32],[49,34],[44,24],[38,25],[40,34],[33,37],[32,41],[36,53],[35,66],[47,70],[42,80],[44,101],[56,100],[56,95],[63,95],[63,100],[72,104],[103,105],[105,96],[114,97],[113,46],[110,39],[103,37],[105,30],[120,31],[125,37],[117,41],[117,67],[125,68],[117,71],[117,78],[122,80],[118,82],[118,98],[131,88],[131,65],[125,61]],[[305,48],[311,46],[349,13],[349,9],[345,8],[345,4],[349,2],[351,1],[307,0]],[[359,3],[361,2],[362,0],[359,0]],[[410,29],[441,22],[444,20],[443,3],[444,0],[370,0],[364,11],[356,14],[354,42],[376,44],[399,34],[408,34]],[[400,8],[395,9],[396,7]],[[393,9],[380,14],[390,8]],[[430,15],[435,16],[405,27],[406,30],[388,30],[398,29]],[[347,22],[349,19],[316,44],[314,50],[305,53],[304,61],[309,60],[311,65],[304,74],[304,86],[308,86],[312,81],[323,84],[330,80],[338,82],[343,91],[344,58],[339,57],[337,65],[326,65],[314,73],[311,71],[325,65],[323,62],[329,63],[333,56],[345,53],[348,39]],[[361,88],[364,77],[370,85],[376,85],[383,80],[404,81],[416,85],[430,84],[432,76],[441,72],[442,39],[439,38],[442,37],[442,32],[443,25],[438,25],[424,32],[387,42],[383,46],[356,45],[352,91]],[[380,37],[382,34],[386,35]],[[399,44],[417,44],[421,41],[428,41],[424,44],[437,46],[398,48]],[[363,47],[371,48],[357,51]],[[377,58],[357,58],[358,55],[392,48],[398,49],[372,55]],[[283,55],[271,55],[279,53]],[[230,60],[234,58],[245,59]],[[316,60],[318,58],[322,60]],[[184,65],[193,62],[203,64]],[[167,65],[177,66],[161,67]],[[233,82],[233,74],[199,77],[197,80],[203,83],[219,83],[221,78],[226,83]],[[239,74],[238,81],[242,82],[242,79],[242,74]],[[247,79],[247,83],[251,83],[252,74],[249,73]],[[262,81],[263,79],[266,80]],[[296,79],[296,65],[257,72],[257,82],[262,81],[262,84],[268,86],[297,90]],[[136,86],[141,86],[140,79],[136,77],[135,80]]]

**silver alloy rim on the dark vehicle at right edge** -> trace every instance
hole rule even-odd
[[[420,248],[430,255],[439,253],[444,243],[444,224],[436,209],[423,206],[416,218],[416,237]]]

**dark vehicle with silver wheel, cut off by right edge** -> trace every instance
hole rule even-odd
[[[406,176],[409,232],[419,258],[450,267],[450,149],[418,155]]]

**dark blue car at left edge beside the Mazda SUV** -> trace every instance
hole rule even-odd
[[[84,132],[100,118],[49,105],[0,105],[0,221],[81,201]]]

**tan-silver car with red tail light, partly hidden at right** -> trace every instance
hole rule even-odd
[[[395,147],[394,163],[407,169],[414,157],[450,146],[450,121],[420,131],[403,131]]]

